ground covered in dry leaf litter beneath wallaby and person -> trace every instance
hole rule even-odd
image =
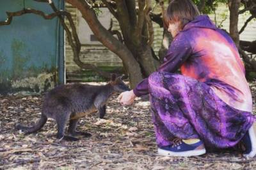
[[[256,86],[250,83],[256,111]],[[82,118],[78,130],[92,137],[56,141],[56,123],[48,120],[40,132],[24,135],[15,123],[32,125],[40,118],[43,95],[0,97],[0,169],[256,169],[236,151],[221,150],[200,157],[161,157],[151,123],[150,104],[138,99],[122,107],[109,99],[104,120]]]

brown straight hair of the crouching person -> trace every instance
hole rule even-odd
[[[170,23],[180,21],[180,28],[188,24],[195,17],[200,15],[196,5],[191,0],[172,0],[167,10],[164,11],[164,27],[168,28]]]

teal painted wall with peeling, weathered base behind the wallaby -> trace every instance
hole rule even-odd
[[[63,0],[55,0],[63,9]],[[47,3],[32,0],[0,1],[0,20],[5,12],[24,8],[52,13]],[[42,93],[64,82],[64,33],[60,21],[45,20],[35,14],[13,17],[0,26],[0,94],[24,91]]]

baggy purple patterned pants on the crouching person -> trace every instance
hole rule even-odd
[[[210,148],[228,148],[254,121],[251,112],[230,107],[207,84],[190,77],[154,72],[148,82],[158,146],[179,137],[201,139]]]

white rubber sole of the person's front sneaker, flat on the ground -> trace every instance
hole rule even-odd
[[[166,150],[163,150],[161,148],[158,148],[158,154],[159,155],[169,156],[169,157],[191,157],[191,156],[203,155],[205,153],[206,153],[205,149],[173,152],[173,151],[166,151]]]

